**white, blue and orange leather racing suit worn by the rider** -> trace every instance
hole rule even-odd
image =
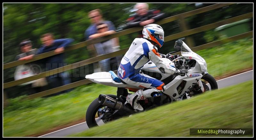
[[[138,100],[144,100],[152,97],[152,93],[164,91],[165,85],[163,82],[152,78],[146,74],[140,73],[141,68],[151,60],[156,67],[161,68],[161,72],[165,74],[174,74],[176,70],[174,64],[164,63],[156,46],[152,45],[147,39],[136,38],[133,40],[129,50],[125,53],[118,68],[118,76],[125,83],[133,86],[138,86],[140,89],[136,92]],[[150,89],[148,89],[150,88]],[[132,94],[133,95],[133,94]],[[128,96],[127,96],[128,97]],[[128,97],[130,98],[130,97]],[[133,107],[131,100],[129,103]],[[139,110],[143,110],[139,109]]]

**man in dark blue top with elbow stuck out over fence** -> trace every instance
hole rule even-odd
[[[56,69],[64,66],[64,50],[69,46],[70,43],[74,41],[74,39],[56,39],[52,33],[47,33],[41,36],[42,46],[38,49],[36,54],[46,53],[49,51],[53,51],[56,55],[45,58],[44,63],[46,64],[46,71]],[[49,85],[51,88],[56,88],[59,86],[67,85],[71,83],[71,79],[69,77],[68,72],[61,72],[58,74],[50,75],[47,77],[49,81]],[[58,95],[60,93],[66,93],[71,91],[72,89],[65,90],[64,92],[59,92],[54,95]]]

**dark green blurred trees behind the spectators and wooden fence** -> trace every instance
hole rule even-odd
[[[215,3],[149,3],[149,9],[159,9],[166,13],[165,17],[174,16]],[[84,31],[89,27],[90,20],[88,12],[94,9],[101,9],[105,20],[112,21],[116,28],[118,25],[132,15],[131,12],[135,3],[4,3],[3,4],[3,63],[14,61],[16,55],[20,54],[18,44],[24,39],[33,41],[33,48],[41,45],[40,36],[44,33],[52,32],[56,39],[73,38],[73,44],[85,41]],[[186,18],[189,29],[202,25],[214,23],[229,17],[252,12],[252,3],[239,3],[230,6],[211,10],[202,14]],[[161,25],[164,28],[165,37],[181,32],[178,21],[173,21]],[[251,24],[252,26],[252,24]],[[140,32],[139,32],[140,33]],[[217,37],[212,37],[215,32],[201,32],[193,37],[196,46],[214,41]],[[138,32],[119,37],[121,49],[130,46],[132,40],[138,36]],[[186,41],[186,40],[185,40]],[[159,53],[172,52],[175,40],[165,42]],[[66,53],[68,64],[90,58],[86,47],[69,51]],[[79,70],[79,69],[78,69]],[[3,70],[5,82],[14,81],[13,74],[15,67]],[[77,69],[70,70],[70,73]],[[84,72],[84,75],[89,71]],[[83,80],[84,75],[72,78],[72,81]],[[22,86],[14,86],[5,89],[7,93],[27,94]]]

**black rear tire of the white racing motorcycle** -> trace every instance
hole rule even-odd
[[[116,95],[108,94],[107,96],[109,96],[113,99],[116,99]],[[85,115],[85,120],[86,120],[86,123],[89,128],[98,126],[98,124],[95,120],[95,115],[96,115],[97,111],[102,107],[104,107],[104,106],[99,103],[98,98],[96,98],[94,101],[92,101],[92,103],[88,107],[88,109],[86,111],[86,115]]]

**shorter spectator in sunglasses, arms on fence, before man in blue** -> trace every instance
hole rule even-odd
[[[101,36],[102,33],[105,33],[105,32],[107,32],[107,34],[108,33],[111,34],[115,32],[114,30],[109,31],[108,24],[105,24],[105,23],[97,24],[96,28],[97,28],[97,33],[89,36],[89,39],[98,38]],[[97,54],[102,55],[102,54],[112,53],[120,50],[120,46],[118,46],[116,39],[118,38],[109,39],[109,40],[94,44]],[[121,59],[122,59],[121,57],[117,56],[117,57],[99,61],[101,71],[108,72],[110,70],[112,71],[117,70]]]

